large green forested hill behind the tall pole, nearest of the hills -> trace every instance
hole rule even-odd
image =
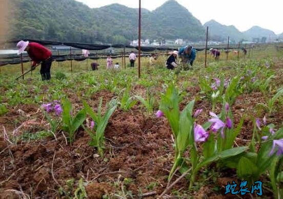
[[[11,38],[128,43],[137,38],[138,10],[119,4],[91,9],[74,0],[10,0]],[[142,11],[143,39],[204,38],[204,27],[174,0]]]

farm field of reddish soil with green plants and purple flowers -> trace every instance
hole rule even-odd
[[[283,197],[283,149],[272,152],[283,139],[283,52],[209,55],[207,68],[200,52],[179,73],[165,61],[143,58],[140,79],[102,59],[98,71],[73,61],[73,73],[53,62],[50,82],[1,67],[0,198],[259,197],[225,194],[241,180]]]

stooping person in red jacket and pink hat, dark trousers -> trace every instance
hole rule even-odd
[[[19,41],[17,43],[18,55],[26,51],[31,60],[33,61],[31,69],[35,69],[35,65],[41,63],[41,75],[42,80],[51,79],[51,65],[52,65],[52,53],[50,50],[40,45],[39,43],[29,41]]]

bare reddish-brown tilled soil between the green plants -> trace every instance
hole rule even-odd
[[[199,87],[189,87],[187,92],[194,96],[199,92]],[[97,106],[100,97],[104,97],[103,104],[106,104],[114,95],[107,91],[99,92],[92,97],[93,102],[90,104]],[[260,102],[264,102],[260,93],[239,96],[232,107],[235,125],[244,114],[259,117],[254,107]],[[76,97],[73,103],[78,103]],[[181,106],[184,108],[185,105]],[[220,107],[220,104],[216,107],[218,113]],[[205,110],[197,119],[199,124],[203,124],[209,118],[211,103],[205,99],[199,100],[195,105],[195,109],[198,108]],[[18,111],[19,109],[22,112]],[[280,125],[282,117],[282,112],[276,111],[269,118],[269,122]],[[3,125],[7,132],[12,132],[18,126],[15,121],[20,124],[32,118],[35,118],[34,123],[23,128],[37,132],[46,127],[46,121],[43,121],[41,110],[38,111],[36,105],[10,109],[8,114],[0,117],[0,127]],[[253,123],[247,118],[236,141],[237,145],[247,145],[252,137],[252,130]],[[22,131],[18,130],[16,133],[20,134]],[[89,198],[102,198],[104,194],[121,192],[122,187],[120,184],[115,186],[115,183],[124,179],[132,179],[132,183],[125,185],[132,194],[156,191],[156,194],[149,197],[155,198],[165,190],[168,183],[167,177],[174,159],[171,134],[166,118],[146,115],[143,109],[134,106],[128,112],[117,109],[109,120],[105,131],[105,157],[98,157],[97,151],[88,145],[90,137],[82,128],[77,132],[72,146],[66,143],[63,132],[59,132],[56,139],[48,138],[17,145],[9,144],[1,137],[0,198],[18,198],[18,195],[23,196],[23,193],[33,198],[55,198],[59,196],[59,187],[67,189],[66,181],[70,179],[83,179],[87,182],[86,191]],[[177,176],[179,173],[176,173],[172,182]],[[237,198],[224,195],[225,184],[237,180],[235,171],[220,172],[218,177],[216,185],[211,184],[212,180],[208,180],[206,186],[190,195],[195,198]],[[150,184],[154,186],[149,188]],[[220,187],[220,191],[213,191],[214,186]],[[187,188],[188,181],[183,179],[173,190],[182,193]],[[266,190],[265,192],[271,194]],[[174,195],[172,191],[168,194]]]

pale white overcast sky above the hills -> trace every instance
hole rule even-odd
[[[138,7],[138,0],[76,0],[91,8],[98,8],[113,3],[123,4],[131,8]],[[154,10],[166,0],[141,0],[141,6]],[[220,24],[234,25],[240,31],[252,26],[270,29],[276,34],[283,32],[282,0],[177,0],[185,6],[202,24],[215,19]]]

